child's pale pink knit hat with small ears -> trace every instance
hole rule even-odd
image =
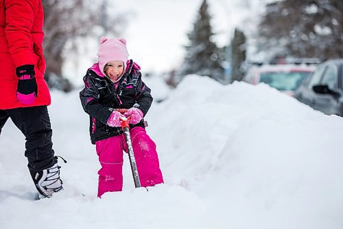
[[[126,39],[110,39],[102,36],[99,39],[99,50],[97,51],[97,61],[102,74],[106,63],[110,61],[123,61],[124,70],[128,61],[128,50],[126,49]]]

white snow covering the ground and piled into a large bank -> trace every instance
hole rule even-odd
[[[150,86],[150,85],[148,85]],[[152,87],[152,91],[159,87]],[[52,91],[64,190],[33,201],[24,137],[0,137],[0,228],[342,228],[343,119],[267,85],[187,76],[147,114],[165,184],[97,195],[99,162],[78,91]]]

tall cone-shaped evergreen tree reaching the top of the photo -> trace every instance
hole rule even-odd
[[[213,32],[210,20],[209,6],[204,0],[193,31],[188,34],[190,45],[185,47],[187,54],[180,69],[181,77],[187,74],[198,74],[218,81],[224,79],[224,69],[220,64],[220,49],[211,41]]]

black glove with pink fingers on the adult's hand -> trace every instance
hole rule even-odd
[[[38,87],[34,75],[34,65],[22,65],[16,68],[16,76],[19,77],[16,98],[23,105],[31,105],[37,97]]]

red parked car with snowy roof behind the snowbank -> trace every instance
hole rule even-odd
[[[246,72],[243,81],[253,85],[266,83],[270,87],[293,96],[294,90],[314,72],[314,69],[316,69],[314,65],[305,64],[252,66]]]

